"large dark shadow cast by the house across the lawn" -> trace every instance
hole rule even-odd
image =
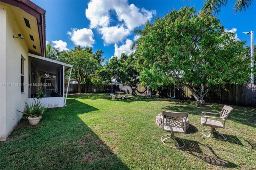
[[[66,107],[49,109],[38,126],[18,124],[0,145],[0,169],[129,169],[78,117],[96,110],[68,99]]]

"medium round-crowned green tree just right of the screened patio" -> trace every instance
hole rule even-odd
[[[81,83],[89,85],[98,69],[98,60],[94,58],[92,48],[76,46],[74,49],[62,52],[59,61],[73,65],[71,77],[78,82],[78,93],[81,93]]]

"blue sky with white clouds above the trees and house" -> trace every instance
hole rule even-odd
[[[80,44],[92,46],[95,52],[102,49],[106,60],[119,56],[122,52],[129,54],[130,44],[136,39],[134,29],[142,28],[147,20],[162,18],[172,10],[183,6],[202,8],[201,0],[32,0],[46,10],[46,40],[53,41],[55,47],[70,50]],[[88,6],[89,4],[89,6]],[[217,15],[224,28],[237,34],[240,40],[247,40],[254,30],[256,38],[256,3],[245,12],[234,14],[234,1],[228,2]],[[254,43],[255,44],[255,43]]]

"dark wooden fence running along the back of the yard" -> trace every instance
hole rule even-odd
[[[65,92],[66,92],[67,84],[65,84]],[[140,92],[145,90],[144,86],[138,84],[137,88]],[[170,98],[170,96],[174,97],[175,90],[175,98],[185,99],[185,100],[194,100],[194,97],[190,90],[187,87],[172,87],[172,89],[162,89],[158,88],[158,95],[160,97]],[[114,93],[115,91],[123,91],[128,94],[132,93],[132,88],[129,86],[121,85],[99,85],[99,86],[85,86],[81,84],[81,92],[82,93]],[[242,106],[254,106],[256,107],[256,84],[226,84],[226,86],[220,89],[221,95],[218,96],[215,92],[209,92],[206,94],[204,100],[207,102],[216,102],[223,104],[236,104]],[[78,92],[78,84],[70,84],[68,93],[77,93]],[[156,94],[154,90],[151,89],[152,94]],[[136,91],[137,95],[146,96],[147,92],[142,94]]]

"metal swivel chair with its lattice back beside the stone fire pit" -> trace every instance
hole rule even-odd
[[[186,122],[187,117],[188,117],[188,113],[167,112],[167,111],[162,112],[162,128],[164,131],[172,132],[171,134],[162,136],[161,142],[163,144],[171,148],[178,148],[178,149],[183,148],[185,146],[185,142],[182,139],[181,140],[183,142],[183,145],[180,146],[178,144],[176,137],[174,136],[174,133],[186,134],[186,123],[183,123],[183,122]],[[175,144],[177,147],[170,146],[164,142],[169,138],[172,138],[175,141]]]

